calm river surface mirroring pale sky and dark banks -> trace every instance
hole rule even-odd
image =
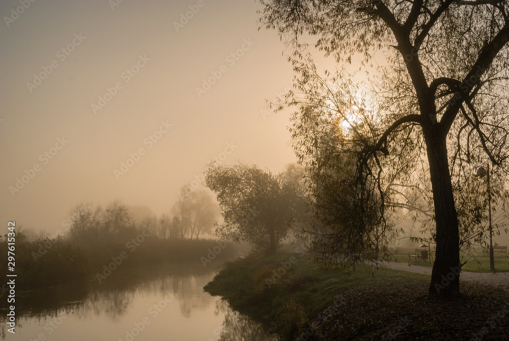
[[[102,283],[31,292],[16,298],[16,333],[7,332],[3,320],[0,334],[13,341],[276,341],[261,324],[203,291],[218,270],[118,270]]]

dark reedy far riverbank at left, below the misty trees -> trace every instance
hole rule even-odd
[[[8,274],[7,243],[0,241],[0,276]],[[105,283],[120,270],[164,264],[195,263],[206,268],[237,252],[233,244],[215,240],[161,239],[137,233],[76,245],[63,238],[16,242],[16,289],[56,287],[96,280]],[[7,283],[7,282],[6,282]],[[8,292],[0,283],[0,297]],[[7,302],[0,301],[0,307]]]

